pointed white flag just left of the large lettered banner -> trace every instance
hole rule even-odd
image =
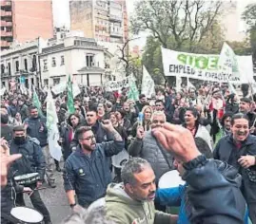
[[[152,95],[155,95],[155,84],[151,76],[148,73],[148,70],[143,65],[143,77],[142,77],[142,94],[150,99]]]

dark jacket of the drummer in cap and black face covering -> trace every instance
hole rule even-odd
[[[10,142],[10,155],[12,154],[22,155],[22,158],[15,160],[12,165],[15,177],[30,173],[39,173],[40,179],[44,179],[46,161],[40,145],[29,138],[20,145],[17,145],[12,140]]]

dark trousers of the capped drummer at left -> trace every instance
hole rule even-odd
[[[35,185],[29,186],[32,190],[35,189]],[[31,203],[33,207],[40,212],[44,216],[44,221],[45,222],[50,222],[50,216],[49,216],[49,211],[43,202],[39,191],[35,190],[33,191],[32,195],[30,196]],[[16,195],[16,204],[17,206],[26,206],[23,193],[18,193]]]

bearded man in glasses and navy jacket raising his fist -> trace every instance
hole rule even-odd
[[[108,183],[111,182],[108,158],[125,147],[124,140],[110,121],[105,121],[102,126],[113,135],[113,141],[96,144],[91,128],[83,126],[77,130],[79,145],[66,160],[64,188],[72,209],[76,207],[75,195],[78,204],[86,208],[105,196]]]

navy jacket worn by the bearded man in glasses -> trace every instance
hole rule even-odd
[[[63,173],[65,191],[74,190],[78,203],[84,207],[105,196],[108,183],[111,182],[108,157],[120,153],[124,146],[124,141],[96,144],[89,158],[78,145],[65,163]]]

